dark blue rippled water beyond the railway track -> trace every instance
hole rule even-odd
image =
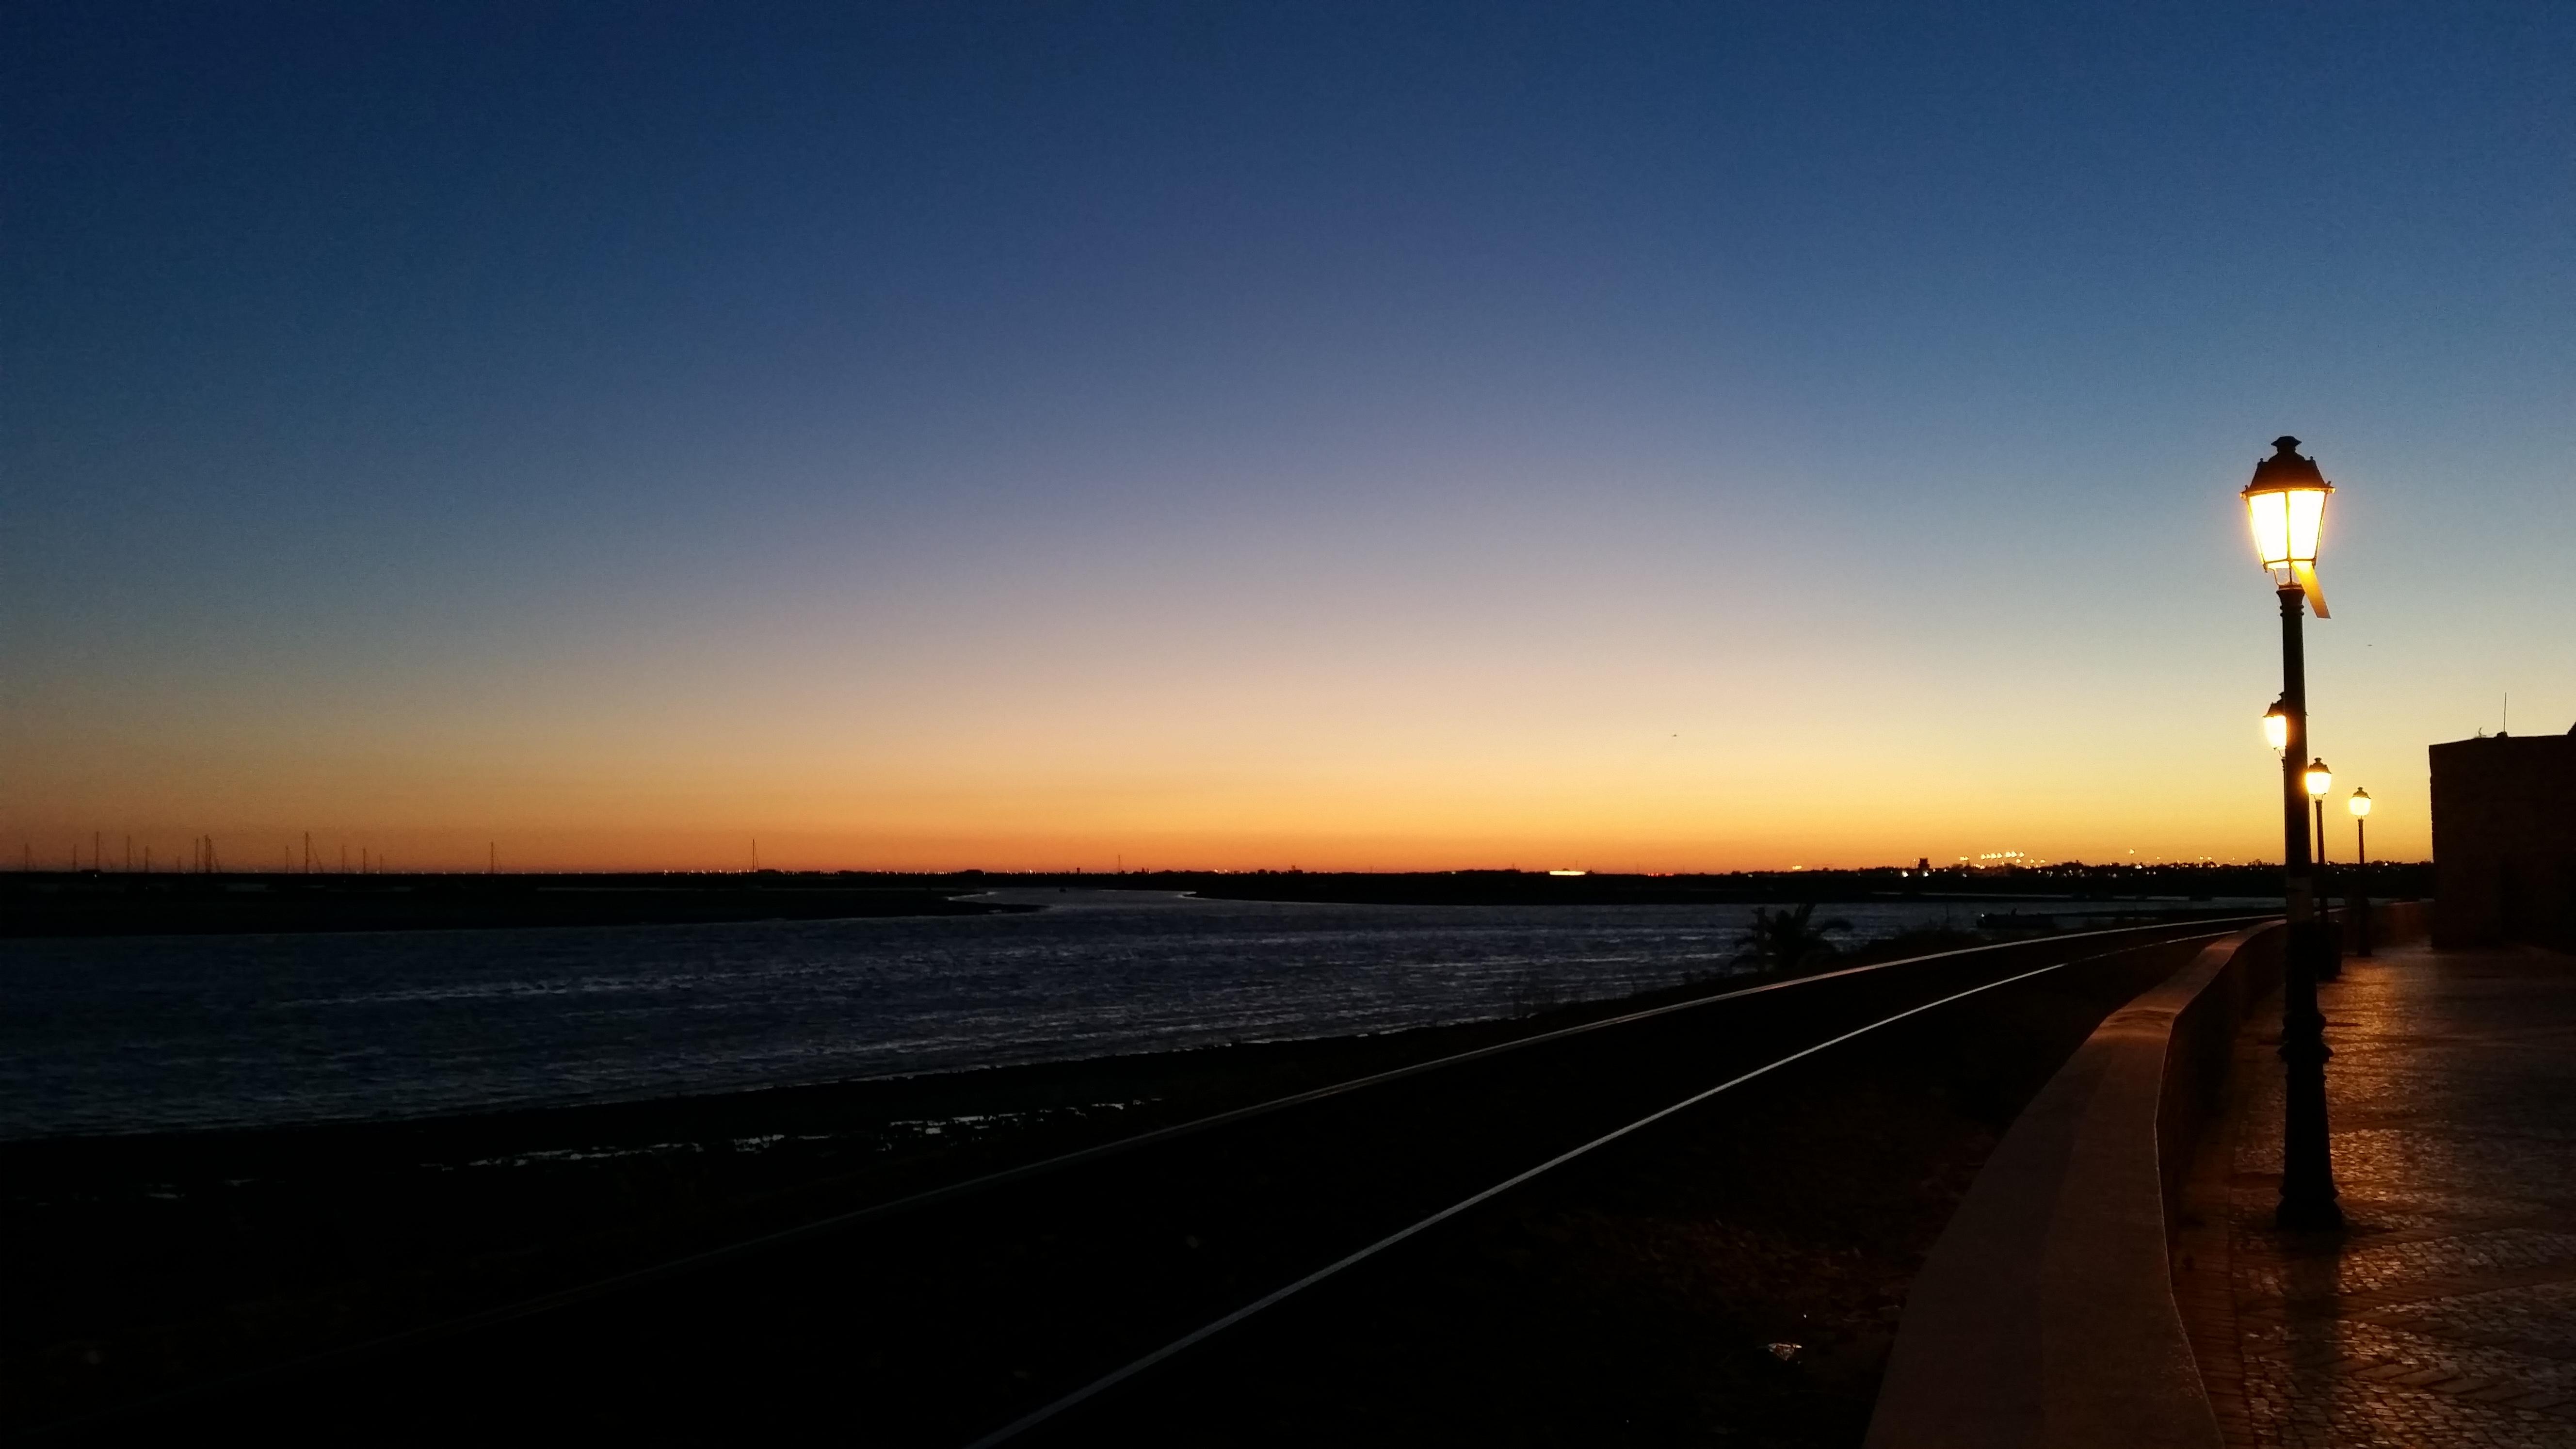
[[[1749,908],[1270,905],[0,944],[0,1140],[652,1098],[1510,1016],[1721,972]],[[1973,905],[1832,905],[1850,938]]]

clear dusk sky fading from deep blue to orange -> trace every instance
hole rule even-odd
[[[2298,433],[2419,859],[2424,745],[2576,722],[2571,75],[2555,0],[10,5],[0,841],[2277,859]]]

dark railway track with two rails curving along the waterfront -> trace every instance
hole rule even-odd
[[[1329,1315],[1525,1183],[1747,1083],[2027,982],[2102,1008],[2218,923],[1855,967],[1595,1021],[992,1173],[796,1232],[62,1426],[453,1441],[1038,1444],[1108,1434],[1247,1323]],[[1280,1328],[1285,1333],[1285,1328]]]

